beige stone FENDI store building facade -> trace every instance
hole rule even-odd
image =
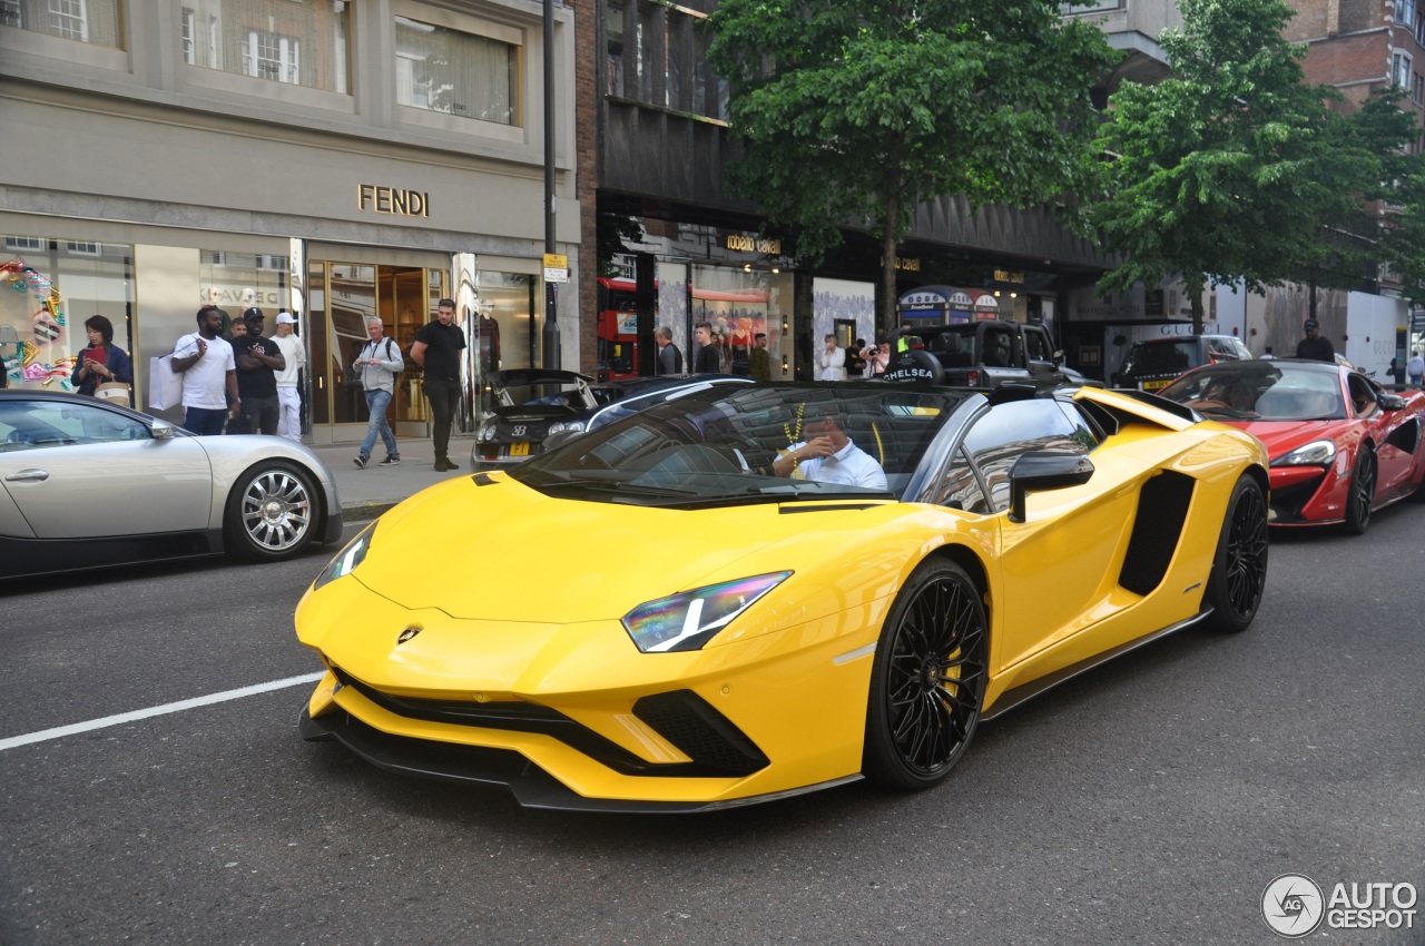
[[[258,306],[269,331],[298,315],[315,443],[361,437],[348,369],[369,316],[409,349],[456,299],[472,392],[539,365],[542,17],[526,0],[0,3],[0,252],[53,284],[63,322],[41,332],[33,293],[3,295],[11,383],[67,385],[98,313],[144,406],[150,358],[205,303]],[[557,251],[577,266],[571,9],[553,40]],[[577,348],[574,321],[560,328]],[[408,368],[393,420],[422,435]]]

